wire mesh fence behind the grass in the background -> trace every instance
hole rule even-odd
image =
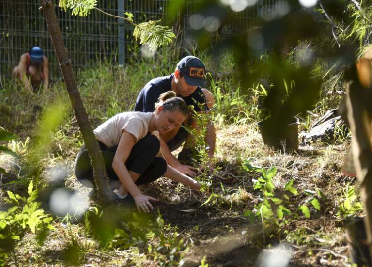
[[[172,0],[99,0],[97,6],[107,13],[119,16],[124,16],[124,11],[129,11],[133,13],[136,22],[143,22],[150,19],[164,20],[171,2]],[[184,36],[193,29],[190,16],[199,3],[197,0],[189,0],[186,12],[177,21]],[[138,46],[133,41],[133,27],[122,19],[96,10],[87,17],[72,16],[71,11],[65,12],[58,8],[58,2],[55,5],[65,46],[75,69],[93,66],[97,61],[123,63],[125,56],[133,51],[131,49]],[[253,19],[260,12],[270,12],[271,6],[274,6],[274,0],[265,0],[254,9],[236,12],[231,23],[224,25],[222,32],[236,31],[238,24],[239,27],[249,28]],[[40,0],[0,0],[0,76],[10,77],[20,56],[33,46],[44,49],[49,60],[50,75],[59,76],[47,23],[39,7]],[[211,21],[213,22],[213,18]]]

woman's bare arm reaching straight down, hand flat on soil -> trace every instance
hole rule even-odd
[[[153,209],[150,200],[155,200],[150,196],[143,195],[140,189],[134,183],[128,169],[125,166],[125,162],[129,157],[129,154],[136,143],[136,138],[134,135],[123,131],[122,137],[120,138],[118,149],[116,150],[114,160],[112,162],[112,168],[114,169],[116,175],[118,175],[122,185],[129,191],[136,201],[138,209],[143,211],[148,211],[148,208]]]

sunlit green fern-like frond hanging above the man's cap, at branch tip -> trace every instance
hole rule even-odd
[[[167,26],[161,26],[157,23],[160,20],[150,20],[135,26],[133,31],[134,38],[140,39],[141,45],[147,45],[150,50],[167,45],[173,41],[176,36]]]

